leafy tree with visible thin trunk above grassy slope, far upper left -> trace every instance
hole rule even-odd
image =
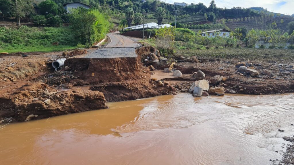
[[[32,0],[14,0],[11,9],[12,15],[16,18],[16,24],[20,27],[20,18],[33,12],[34,6]]]

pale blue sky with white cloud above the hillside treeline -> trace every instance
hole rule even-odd
[[[164,1],[165,0],[161,0]],[[209,6],[211,0],[166,0],[166,3],[174,2],[186,2],[188,4],[198,4],[202,2],[204,5]],[[294,14],[294,0],[215,0],[216,6],[218,7],[263,7],[268,11],[273,11],[282,14]]]

